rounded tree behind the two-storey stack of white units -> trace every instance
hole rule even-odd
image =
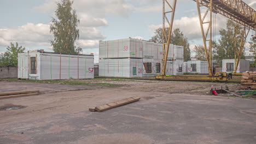
[[[158,28],[155,30],[155,35],[149,40],[154,43],[162,44],[162,28]],[[166,34],[168,30],[166,30]],[[166,43],[166,40],[164,41]],[[171,37],[171,44],[180,45],[184,47],[184,61],[187,62],[190,60],[190,49],[188,38],[179,30],[179,28],[174,29]]]

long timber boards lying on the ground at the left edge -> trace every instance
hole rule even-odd
[[[0,93],[0,99],[27,97],[31,95],[38,95],[39,91],[20,91],[20,92],[6,92]]]

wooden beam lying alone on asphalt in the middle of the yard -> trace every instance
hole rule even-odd
[[[108,103],[108,104],[96,106],[95,110],[98,111],[98,112],[102,112],[102,111],[106,111],[106,110],[109,110],[109,109],[113,109],[114,107],[118,107],[118,106],[121,106],[121,105],[125,105],[125,104],[129,104],[129,103],[138,101],[139,99],[141,99],[141,98],[139,98],[137,96],[136,97],[130,97],[130,98],[127,98],[127,99],[115,101],[113,103]]]

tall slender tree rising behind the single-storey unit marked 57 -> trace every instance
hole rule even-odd
[[[81,47],[75,46],[75,40],[79,39],[79,20],[75,10],[72,8],[73,1],[61,0],[57,3],[55,11],[56,19],[51,20],[50,33],[54,34],[51,40],[54,52],[79,53]]]

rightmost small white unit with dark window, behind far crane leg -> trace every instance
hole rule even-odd
[[[234,73],[235,69],[235,59],[223,59],[222,60],[222,71],[226,73]],[[250,62],[244,59],[240,59],[240,63],[238,63],[238,67],[236,73],[243,73],[245,71],[249,71]]]

